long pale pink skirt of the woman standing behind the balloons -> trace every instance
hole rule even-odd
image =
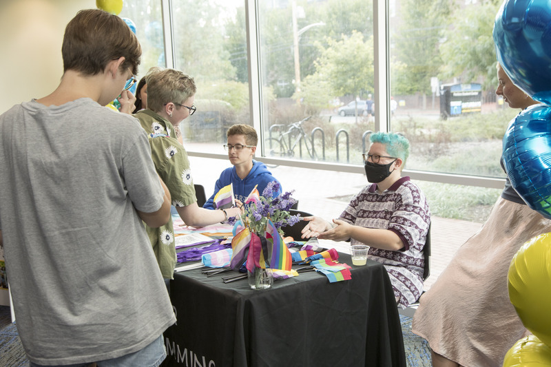
[[[549,231],[551,220],[499,198],[484,226],[420,298],[413,333],[461,366],[501,367],[507,351],[528,332],[509,300],[510,262],[526,241]]]

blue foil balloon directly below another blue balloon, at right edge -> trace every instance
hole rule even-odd
[[[530,208],[551,219],[551,107],[532,105],[511,120],[503,158],[512,187]]]

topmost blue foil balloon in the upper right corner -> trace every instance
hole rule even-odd
[[[551,5],[506,0],[494,23],[497,60],[512,82],[535,101],[551,104]]]

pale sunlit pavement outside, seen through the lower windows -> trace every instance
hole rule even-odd
[[[194,182],[203,185],[207,198],[214,191],[214,182],[223,169],[230,167],[228,160],[216,160],[190,156]],[[280,180],[283,191],[295,190],[293,198],[299,201],[298,209],[331,219],[340,215],[362,187],[367,185],[365,175],[342,172],[278,166],[269,168]],[[453,255],[470,236],[477,233],[481,223],[448,218],[432,218],[430,276],[425,281],[425,290],[435,282],[446,268]]]

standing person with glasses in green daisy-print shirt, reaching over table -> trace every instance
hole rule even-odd
[[[147,109],[134,116],[140,120],[149,137],[153,162],[169,189],[172,205],[180,218],[189,226],[202,227],[238,216],[241,213],[239,208],[213,211],[197,205],[187,153],[178,143],[174,129],[196,111],[194,79],[178,70],[157,69],[146,75],[146,83]],[[172,279],[176,265],[172,219],[159,228],[146,225],[146,230],[163,277]]]

